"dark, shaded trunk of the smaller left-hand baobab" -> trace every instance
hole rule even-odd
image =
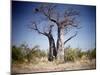
[[[55,47],[55,41],[53,39],[53,36],[51,34],[48,35],[49,40],[49,54],[48,54],[48,60],[53,61],[54,58],[57,57],[57,51]]]

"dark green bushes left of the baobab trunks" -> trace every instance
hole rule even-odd
[[[37,45],[32,49],[24,44],[20,47],[12,46],[12,62],[37,62],[37,59],[45,56],[47,56],[45,51],[40,50]]]

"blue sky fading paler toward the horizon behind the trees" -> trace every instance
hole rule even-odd
[[[40,22],[40,28],[45,27],[46,21],[41,19],[41,15],[33,14],[33,9],[41,3],[39,2],[21,2],[12,1],[12,45],[20,46],[23,43],[28,44],[30,48],[39,45],[41,49],[49,48],[48,38],[38,34],[36,31],[28,28],[31,21],[36,20]],[[58,12],[64,11],[67,8],[73,8],[80,12],[78,17],[80,21],[80,29],[72,29],[64,36],[67,39],[78,31],[76,37],[67,42],[65,47],[81,48],[88,50],[95,48],[96,44],[96,7],[86,5],[73,4],[57,4]],[[53,36],[57,40],[57,31],[54,29]]]

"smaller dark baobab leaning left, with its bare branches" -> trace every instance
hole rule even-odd
[[[44,27],[42,27],[43,31],[39,29],[38,24],[35,22],[32,22],[32,24],[29,26],[30,29],[37,31],[39,34],[42,34],[48,38],[49,41],[49,53],[48,53],[48,60],[53,61],[54,58],[57,56],[56,47],[55,47],[55,40],[52,35],[52,28],[54,25],[48,25],[46,27],[46,30]]]

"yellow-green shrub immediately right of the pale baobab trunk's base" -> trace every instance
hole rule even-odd
[[[86,52],[82,51],[79,48],[66,48],[64,54],[64,60],[66,61],[75,61],[81,59],[83,56],[86,56]]]

